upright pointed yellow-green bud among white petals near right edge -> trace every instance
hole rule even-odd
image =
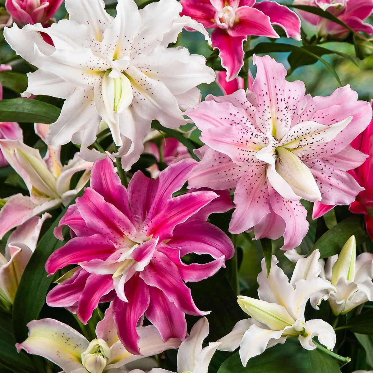
[[[339,253],[332,268],[332,284],[336,285],[341,277],[348,281],[355,279],[356,240],[351,236]]]

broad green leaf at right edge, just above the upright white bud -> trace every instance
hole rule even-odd
[[[312,251],[319,249],[322,258],[333,256],[342,250],[352,235],[355,235],[357,245],[369,239],[364,229],[364,218],[360,215],[350,216],[329,229],[316,241]]]

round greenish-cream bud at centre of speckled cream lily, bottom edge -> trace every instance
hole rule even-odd
[[[90,373],[102,373],[111,359],[111,353],[103,339],[94,339],[82,353],[82,364]]]

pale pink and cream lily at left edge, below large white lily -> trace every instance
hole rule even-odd
[[[45,138],[48,126],[35,123],[35,132]],[[0,150],[10,166],[25,182],[30,196],[13,195],[0,210],[0,239],[10,229],[23,224],[32,216],[58,206],[67,206],[90,178],[93,163],[81,159],[78,153],[68,164],[60,162],[60,147],[49,146],[46,156],[41,158],[37,149],[20,140],[0,140]],[[74,189],[70,181],[74,173],[85,171]]]

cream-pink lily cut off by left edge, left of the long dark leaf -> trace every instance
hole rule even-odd
[[[5,255],[0,253],[0,304],[6,310],[10,310],[14,302],[22,273],[36,248],[41,226],[49,217],[51,215],[45,213],[23,223],[10,233]]]

